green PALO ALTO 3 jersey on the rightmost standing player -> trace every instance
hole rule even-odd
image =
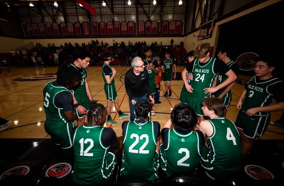
[[[246,112],[250,108],[270,106],[274,97],[268,92],[268,87],[277,82],[279,78],[269,78],[261,83],[256,82],[256,76],[252,77],[247,83],[247,93],[242,104],[242,111]],[[270,112],[257,112],[254,116],[268,116]]]

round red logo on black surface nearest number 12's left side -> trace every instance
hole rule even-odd
[[[72,166],[69,163],[57,163],[45,172],[46,177],[63,178],[71,171]]]

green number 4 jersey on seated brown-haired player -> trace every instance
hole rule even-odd
[[[239,132],[229,119],[216,117],[207,120],[213,127],[209,137],[208,161],[221,170],[237,171],[241,167],[241,141]]]

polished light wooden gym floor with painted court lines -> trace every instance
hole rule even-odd
[[[122,112],[129,114],[128,96],[124,87],[124,74],[130,67],[114,66],[117,70],[115,77],[116,91],[120,102]],[[177,67],[177,72],[182,72],[184,67]],[[29,68],[12,68],[12,75],[8,75],[6,71],[3,76],[0,76],[0,116],[7,120],[12,120],[12,124],[3,132],[0,132],[0,138],[50,138],[44,130],[45,112],[43,109],[43,86],[55,80],[54,74],[57,67],[29,67]],[[48,74],[48,75],[42,75]],[[25,77],[28,76],[28,77]],[[22,78],[24,77],[24,78]],[[249,78],[239,76],[241,78]],[[46,79],[53,78],[53,79]],[[18,81],[18,80],[33,80],[33,81]],[[17,80],[17,81],[15,81]],[[106,95],[104,92],[104,82],[101,74],[101,67],[88,67],[87,80],[90,91],[94,99],[106,106]],[[158,121],[161,124],[161,129],[170,117],[172,108],[179,103],[179,95],[183,86],[182,80],[173,80],[172,97],[160,97],[161,104],[154,104],[155,116],[152,116],[152,121]],[[164,94],[164,83],[161,82],[160,96]],[[235,106],[239,100],[239,96],[244,89],[244,85],[236,84],[233,88],[233,98],[227,118],[232,121],[236,120],[238,109]],[[275,102],[273,102],[275,104]],[[116,132],[117,136],[122,135],[121,124],[128,118],[119,119],[118,113],[112,105],[112,118],[118,122],[117,125],[111,127]],[[280,118],[282,112],[273,112],[271,121]],[[75,121],[76,125],[76,121]],[[110,127],[105,124],[105,127]],[[283,140],[284,127],[269,125],[262,139],[266,140]]]

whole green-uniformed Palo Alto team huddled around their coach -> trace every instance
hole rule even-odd
[[[228,48],[220,48],[219,59],[209,54],[209,43],[199,44],[195,51],[189,52],[189,63],[181,73],[184,82],[181,103],[173,108],[162,130],[158,121],[147,119],[150,114],[154,115],[153,103],[159,103],[156,96],[160,84],[155,82],[155,74],[158,76],[161,72],[158,67],[161,61],[152,58],[149,48],[145,50],[146,59],[133,58],[132,68],[125,75],[130,119],[123,121],[122,136],[118,137],[112,128],[102,127],[106,122],[117,124],[110,117],[113,101],[120,119],[129,116],[119,107],[114,85],[116,70],[110,67],[110,54],[102,54],[105,107],[93,100],[87,82],[91,55],[77,48],[74,61],[59,67],[57,80],[48,82],[43,89],[45,131],[63,151],[73,151],[68,151],[74,153],[73,182],[77,185],[106,183],[117,165],[122,181],[155,181],[160,174],[193,176],[197,171],[216,179],[234,178],[253,139],[264,134],[270,112],[284,110],[284,99],[277,91],[283,81],[273,77],[273,61],[257,59],[255,76],[241,93],[234,123],[226,119],[226,112],[238,65],[230,59]],[[162,70],[166,93],[162,97],[170,97],[176,65],[169,53],[165,57]],[[273,99],[277,104],[272,105]]]

